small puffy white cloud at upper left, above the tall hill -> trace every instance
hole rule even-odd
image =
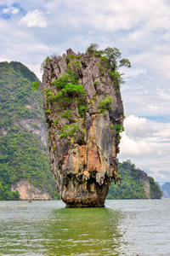
[[[42,11],[35,9],[29,11],[25,17],[19,21],[19,25],[27,27],[46,27],[48,25]]]

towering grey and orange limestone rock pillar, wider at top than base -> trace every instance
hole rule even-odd
[[[51,172],[66,207],[104,207],[123,122],[119,84],[99,57],[47,60],[42,76]]]

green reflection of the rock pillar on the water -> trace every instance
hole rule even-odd
[[[105,208],[60,209],[44,234],[52,255],[119,255],[122,214]]]

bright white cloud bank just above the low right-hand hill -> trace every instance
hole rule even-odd
[[[170,180],[170,123],[130,115],[124,126],[119,160],[130,159],[160,183]]]

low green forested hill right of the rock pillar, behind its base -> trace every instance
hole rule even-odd
[[[161,199],[161,189],[153,177],[136,168],[130,160],[118,166],[121,186],[111,183],[107,199]]]

